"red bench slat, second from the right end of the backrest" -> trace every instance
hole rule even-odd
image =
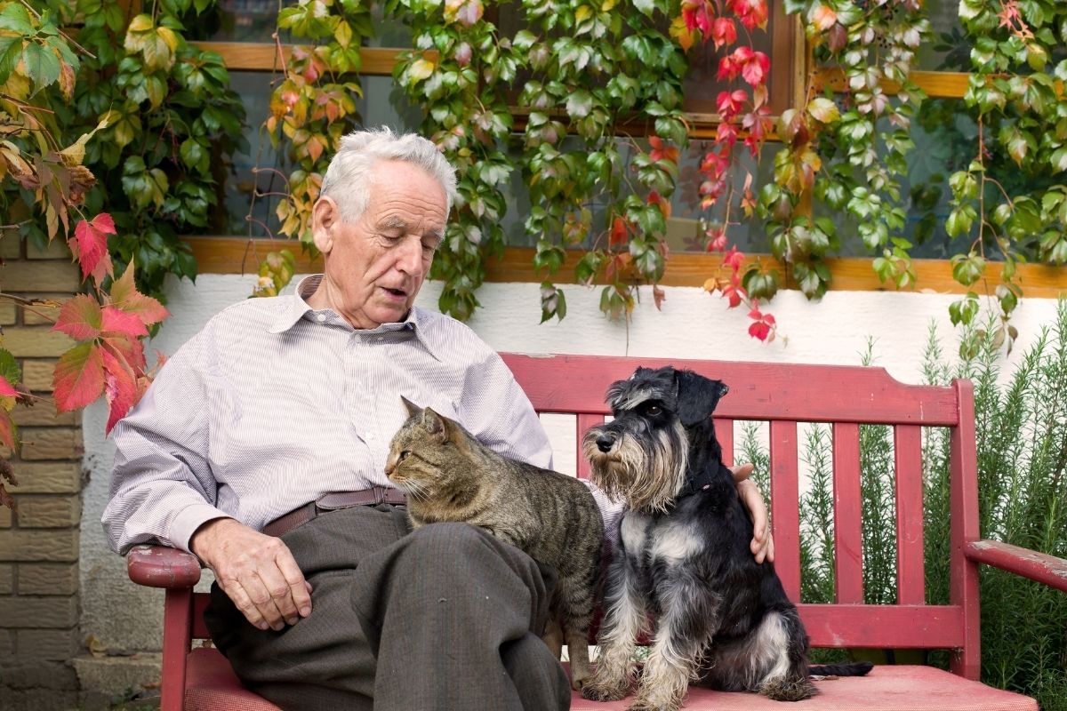
[[[861,501],[860,427],[855,422],[834,422],[833,565],[838,602],[863,601]]]

